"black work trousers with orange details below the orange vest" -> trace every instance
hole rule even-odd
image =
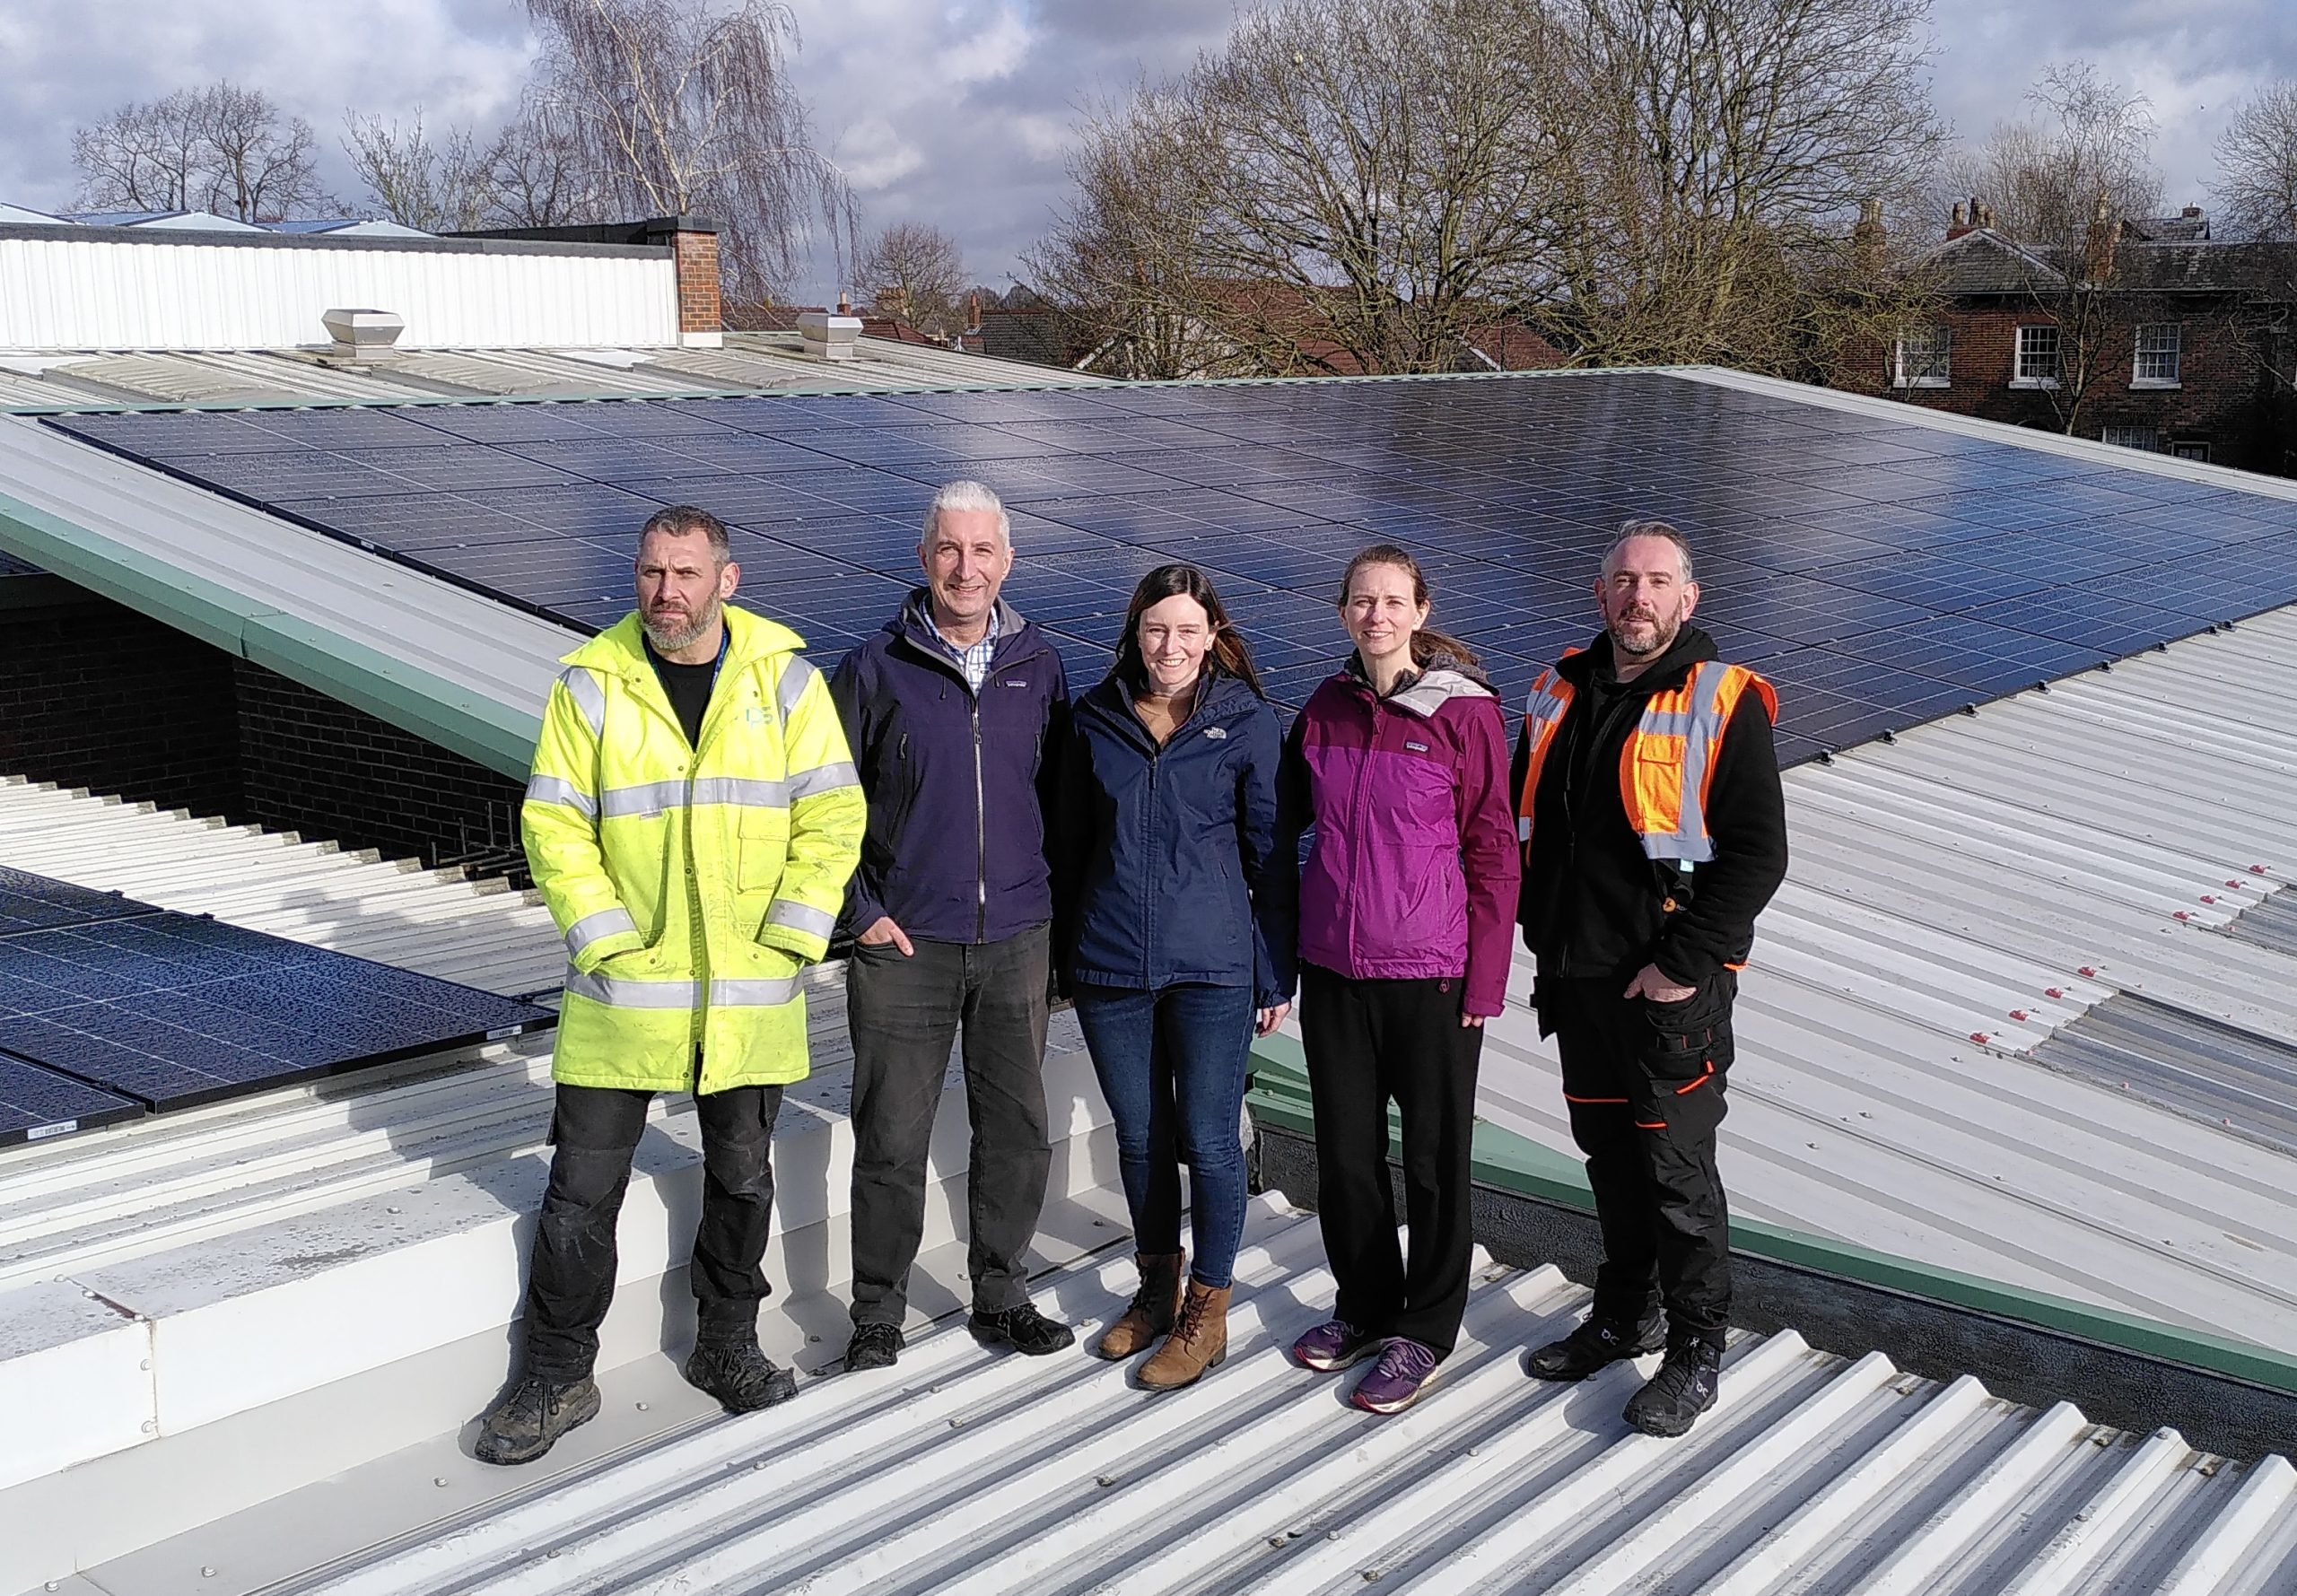
[[[1730,1206],[1716,1130],[1732,1061],[1737,976],[1681,1004],[1622,997],[1629,978],[1541,981],[1539,1017],[1564,1066],[1571,1139],[1603,1229],[1594,1314],[1635,1323],[1658,1300],[1670,1341],[1723,1343],[1730,1325]]]

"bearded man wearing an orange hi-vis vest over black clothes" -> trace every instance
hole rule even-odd
[[[1716,1403],[1730,1323],[1716,1130],[1737,971],[1787,873],[1778,698],[1691,625],[1700,588],[1672,526],[1622,526],[1594,592],[1603,634],[1532,684],[1514,792],[1516,919],[1603,1265],[1587,1323],[1525,1366],[1585,1380],[1665,1348],[1626,1421],[1681,1435]]]

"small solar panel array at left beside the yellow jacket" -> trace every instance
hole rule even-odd
[[[0,868],[0,1144],[549,1022],[533,1004]]]

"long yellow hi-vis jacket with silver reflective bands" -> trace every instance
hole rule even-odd
[[[799,971],[861,857],[861,781],[802,638],[726,609],[701,746],[636,615],[565,657],[519,822],[567,942],[556,1079],[726,1091],[806,1077]],[[696,1077],[698,1061],[698,1077]]]

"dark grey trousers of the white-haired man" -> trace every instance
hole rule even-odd
[[[926,1235],[926,1153],[949,1049],[962,1033],[972,1157],[965,1210],[974,1309],[1029,1300],[1027,1252],[1045,1210],[1045,1020],[1052,932],[1001,942],[926,942],[914,953],[854,946],[845,1017],[854,1038],[857,1325],[900,1325],[910,1265]]]

